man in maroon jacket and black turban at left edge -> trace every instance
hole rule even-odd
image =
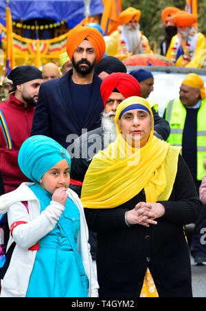
[[[34,107],[43,82],[41,71],[30,65],[12,69],[8,78],[13,82],[10,99],[0,105],[0,169],[5,193],[27,181],[17,158],[21,144],[30,137]]]

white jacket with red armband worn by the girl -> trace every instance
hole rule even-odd
[[[13,230],[13,237],[10,235],[8,248],[12,242],[16,242],[14,252],[5,277],[1,280],[1,297],[25,297],[27,293],[30,275],[34,266],[37,250],[28,250],[34,246],[42,237],[47,235],[58,222],[65,206],[58,202],[50,202],[45,211],[40,213],[40,203],[36,195],[31,191],[32,183],[23,182],[18,189],[1,195],[0,214],[8,213],[8,224],[14,222],[27,222],[20,224]],[[67,194],[78,206],[80,211],[80,230],[78,235],[78,250],[82,257],[84,270],[89,278],[88,297],[98,297],[98,281],[95,280],[93,264],[88,243],[89,233],[87,222],[84,216],[82,202],[78,195],[71,189]],[[27,208],[21,203],[28,202]],[[41,277],[40,277],[41,281]]]

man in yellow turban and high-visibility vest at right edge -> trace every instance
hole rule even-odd
[[[170,123],[168,142],[182,147],[182,156],[190,169],[199,191],[205,175],[203,162],[206,156],[206,93],[203,79],[197,74],[187,74],[180,87],[180,97],[170,100],[165,109],[165,119]],[[206,262],[205,246],[200,242],[200,230],[206,226],[205,208],[196,222],[191,253],[196,264]]]

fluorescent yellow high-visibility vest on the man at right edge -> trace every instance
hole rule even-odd
[[[165,120],[170,123],[168,142],[174,146],[182,146],[183,130],[187,110],[179,98],[170,100],[165,109]],[[206,157],[206,98],[201,101],[197,115],[197,180],[203,180],[205,169],[203,162]]]

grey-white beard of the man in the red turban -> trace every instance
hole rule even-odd
[[[106,114],[105,111],[102,112],[102,129],[104,137],[104,149],[108,147],[111,142],[114,142],[117,138],[117,130],[114,118],[110,117],[113,115],[113,111]]]

